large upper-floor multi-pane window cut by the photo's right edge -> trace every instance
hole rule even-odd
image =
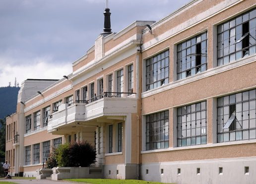
[[[218,66],[256,53],[256,9],[218,26]]]

